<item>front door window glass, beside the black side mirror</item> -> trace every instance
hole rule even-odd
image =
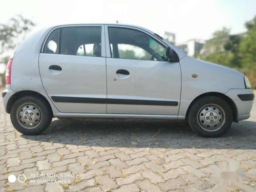
[[[164,61],[165,47],[137,30],[109,27],[111,57]]]

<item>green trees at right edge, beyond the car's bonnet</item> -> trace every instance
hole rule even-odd
[[[245,26],[244,34],[230,35],[227,28],[216,31],[198,57],[244,73],[256,89],[256,16]]]

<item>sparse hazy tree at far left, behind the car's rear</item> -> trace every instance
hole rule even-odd
[[[22,15],[9,19],[6,24],[0,24],[0,62],[8,62],[14,49],[34,26],[31,20]],[[2,80],[5,80],[4,76],[5,74],[2,74]]]

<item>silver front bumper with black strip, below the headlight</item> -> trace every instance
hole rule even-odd
[[[253,91],[251,89],[230,89],[225,94],[231,98],[237,105],[238,118],[237,120],[248,119],[252,108],[254,99]]]

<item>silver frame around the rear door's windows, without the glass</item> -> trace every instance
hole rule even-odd
[[[53,27],[49,32],[48,34],[46,35],[43,43],[42,43],[42,46],[41,46],[41,50],[40,50],[40,53],[44,53],[44,48],[46,46],[46,41],[48,39],[48,37],[50,36],[50,34],[55,30],[55,29],[58,29],[60,28],[60,32],[61,32],[61,28],[64,28],[64,27],[101,27],[101,57],[106,57],[106,50],[105,50],[105,27],[104,25],[102,24],[82,24],[82,25],[65,25],[65,26],[56,26],[56,27]],[[61,36],[61,33],[59,35],[59,38]],[[60,40],[60,39],[59,39]],[[60,49],[60,46],[59,46],[59,49]],[[50,54],[50,53],[44,53],[44,54]],[[54,55],[64,55],[64,54],[54,54]],[[69,56],[79,56],[79,55],[69,55]],[[83,57],[92,57],[92,56],[83,56]]]

